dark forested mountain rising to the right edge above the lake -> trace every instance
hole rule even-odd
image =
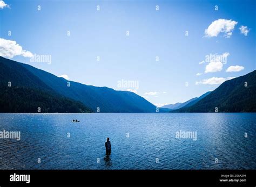
[[[256,70],[225,81],[196,104],[170,112],[256,112]]]

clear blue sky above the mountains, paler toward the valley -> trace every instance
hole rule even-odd
[[[154,104],[185,102],[256,69],[255,1],[3,2],[0,54]],[[51,63],[31,62],[29,52]],[[199,64],[210,54],[227,58]],[[122,80],[139,86],[120,88]]]

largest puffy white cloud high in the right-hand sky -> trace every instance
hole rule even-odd
[[[237,21],[218,19],[211,23],[205,30],[205,37],[217,37],[219,33],[224,33],[225,38],[230,38]]]

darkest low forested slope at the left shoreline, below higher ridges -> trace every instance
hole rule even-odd
[[[42,90],[0,86],[0,112],[91,112],[84,104],[52,92]]]

